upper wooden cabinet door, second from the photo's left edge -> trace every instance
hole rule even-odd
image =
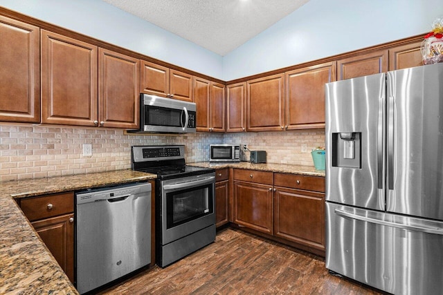
[[[42,30],[42,122],[98,122],[97,46]]]

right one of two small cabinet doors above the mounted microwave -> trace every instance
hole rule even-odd
[[[194,102],[194,97],[192,97],[192,75],[179,72],[178,70],[170,70],[169,77],[169,93],[171,98]]]

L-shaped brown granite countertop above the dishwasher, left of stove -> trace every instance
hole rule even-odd
[[[78,294],[15,198],[154,178],[154,174],[121,170],[0,182],[0,294]]]

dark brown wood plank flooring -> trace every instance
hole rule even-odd
[[[100,294],[381,293],[330,275],[321,257],[228,228],[177,263],[146,269]]]

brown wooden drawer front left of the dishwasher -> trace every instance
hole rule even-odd
[[[24,198],[20,201],[20,207],[30,221],[72,213],[74,193],[70,191],[50,196]]]

